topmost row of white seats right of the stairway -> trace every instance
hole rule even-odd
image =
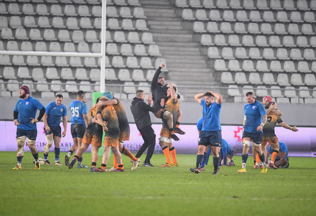
[[[188,3],[189,2],[189,3]],[[243,5],[240,4],[239,0],[216,0],[214,4],[213,0],[203,0],[202,4],[200,0],[176,0],[176,6],[180,8],[192,7],[192,8],[220,8],[220,9],[250,9],[250,10],[316,10],[316,1],[310,1],[310,4],[307,3],[307,0],[293,1],[293,0],[284,0],[283,6],[281,6],[280,0],[270,1],[268,6],[267,0],[257,0],[255,4],[253,0],[244,0]],[[294,5],[296,3],[296,7]]]

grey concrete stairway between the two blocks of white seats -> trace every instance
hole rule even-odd
[[[214,73],[208,66],[208,58],[201,53],[201,44],[194,40],[193,30],[184,29],[182,18],[176,15],[175,6],[168,0],[140,0],[147,16],[147,25],[166,59],[168,73],[162,75],[177,86],[199,87],[187,89],[187,101],[193,96],[215,86]],[[162,70],[163,72],[163,70]],[[184,95],[184,89],[179,88]]]

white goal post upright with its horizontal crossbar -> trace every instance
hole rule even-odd
[[[64,52],[30,52],[30,51],[0,51],[0,55],[33,55],[33,56],[64,56],[64,57],[101,57],[100,91],[105,91],[105,46],[106,46],[106,0],[102,0],[101,18],[101,53],[64,53]]]

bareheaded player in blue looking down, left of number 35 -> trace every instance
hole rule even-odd
[[[43,116],[43,122],[45,124],[45,135],[47,144],[44,148],[44,163],[47,165],[52,165],[51,162],[48,161],[48,152],[52,147],[53,141],[55,145],[55,165],[61,166],[62,164],[59,162],[59,153],[60,153],[60,139],[61,136],[65,137],[67,132],[67,108],[63,102],[63,95],[56,95],[55,101],[49,103],[45,109],[45,114]],[[60,127],[60,118],[63,117],[63,126],[64,131],[61,132]]]

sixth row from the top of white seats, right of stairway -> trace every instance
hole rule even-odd
[[[225,60],[216,59],[214,63],[214,69],[216,71],[249,71],[249,72],[301,72],[301,73],[310,73],[316,72],[316,62],[312,63],[312,71],[308,67],[308,63],[306,61],[299,61],[297,70],[295,69],[293,61],[284,61],[283,67],[281,66],[280,61],[272,60],[270,62],[270,68],[268,68],[267,62],[264,60],[258,60],[256,63],[256,68],[254,68],[254,62],[252,60],[244,60],[242,62],[242,67],[240,68],[238,60],[229,60],[228,68],[226,67]]]

